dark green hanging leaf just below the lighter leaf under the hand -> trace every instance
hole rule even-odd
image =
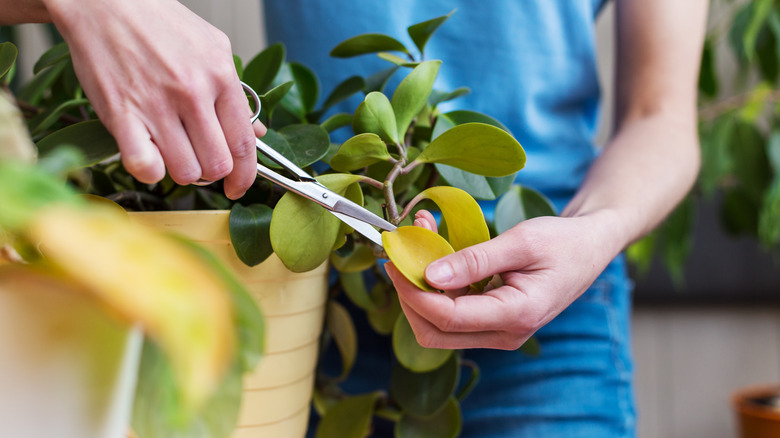
[[[404,413],[430,417],[452,398],[458,385],[460,364],[453,354],[444,365],[425,373],[415,373],[396,364],[390,381],[390,395]]]

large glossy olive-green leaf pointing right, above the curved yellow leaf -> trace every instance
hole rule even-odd
[[[525,166],[525,151],[502,129],[466,123],[433,139],[415,161],[447,164],[478,175],[506,176]]]

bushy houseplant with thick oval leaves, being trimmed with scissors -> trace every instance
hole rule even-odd
[[[491,199],[508,193],[499,207],[509,214],[502,215],[502,222],[491,224],[493,232],[532,212],[552,211],[540,195],[512,187],[513,174],[522,167],[524,154],[498,121],[467,111],[439,111],[439,103],[468,92],[434,90],[441,63],[423,60],[428,38],[447,18],[436,17],[409,28],[416,50],[386,35],[361,35],[337,46],[335,56],[377,53],[390,68],[368,78],[347,78],[321,106],[317,106],[314,72],[285,62],[281,45],[267,48],[246,66],[236,60],[236,66],[242,80],[262,94],[263,120],[271,128],[264,138],[266,143],[300,167],[310,167],[334,191],[385,214],[396,224],[404,224],[421,201],[433,201],[442,210],[447,235],[457,249],[490,237],[490,227],[469,191]],[[419,59],[414,52],[419,53]],[[94,114],[81,95],[69,62],[67,48],[55,46],[36,65],[36,78],[19,97],[30,110],[31,132],[42,155],[71,143],[89,158],[89,166],[72,178],[76,186],[135,210],[230,209],[230,237],[244,263],[261,263],[273,252],[289,270],[305,272],[329,260],[339,272],[334,294],[343,290],[357,307],[368,312],[377,331],[393,337],[399,365],[391,382],[392,396],[374,392],[348,397],[338,389],[338,383],[358,354],[354,326],[341,304],[329,302],[326,339],[333,339],[340,350],[343,369],[339,376],[318,379],[315,406],[324,414],[318,434],[343,433],[349,425],[356,435],[365,435],[375,415],[397,420],[399,430],[436,427],[442,436],[457,433],[459,412],[453,395],[456,390],[460,396],[468,392],[468,388],[456,388],[464,364],[457,353],[426,350],[416,343],[377,263],[384,257],[379,248],[350,233],[319,206],[265,181],[258,181],[238,203],[222,197],[219,184],[178,187],[169,180],[154,185],[138,183],[119,162],[104,160],[116,148],[99,122],[70,123],[76,121],[74,118],[94,119]],[[396,71],[404,79],[386,95],[386,84]],[[353,114],[328,115],[334,104],[360,93],[365,96]],[[356,135],[343,144],[331,144],[329,133],[349,126]],[[466,215],[452,215],[464,211]],[[301,233],[301,224],[316,231]],[[430,235],[422,239],[435,240]],[[411,257],[425,249],[409,249],[403,236],[386,247],[391,253],[392,248],[407,249]],[[374,274],[376,283],[371,290],[364,282],[364,271]],[[427,389],[411,393],[405,389],[410,382]],[[449,427],[438,427],[441,422]],[[433,436],[433,432],[426,433]]]

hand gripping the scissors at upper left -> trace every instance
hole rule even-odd
[[[84,92],[125,168],[178,184],[224,178],[241,197],[256,176],[250,110],[228,38],[176,0],[45,0]]]

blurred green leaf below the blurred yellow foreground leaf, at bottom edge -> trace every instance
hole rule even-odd
[[[241,372],[232,367],[200,412],[184,411],[170,364],[147,341],[141,356],[132,426],[144,438],[227,436],[238,420],[241,393]]]

